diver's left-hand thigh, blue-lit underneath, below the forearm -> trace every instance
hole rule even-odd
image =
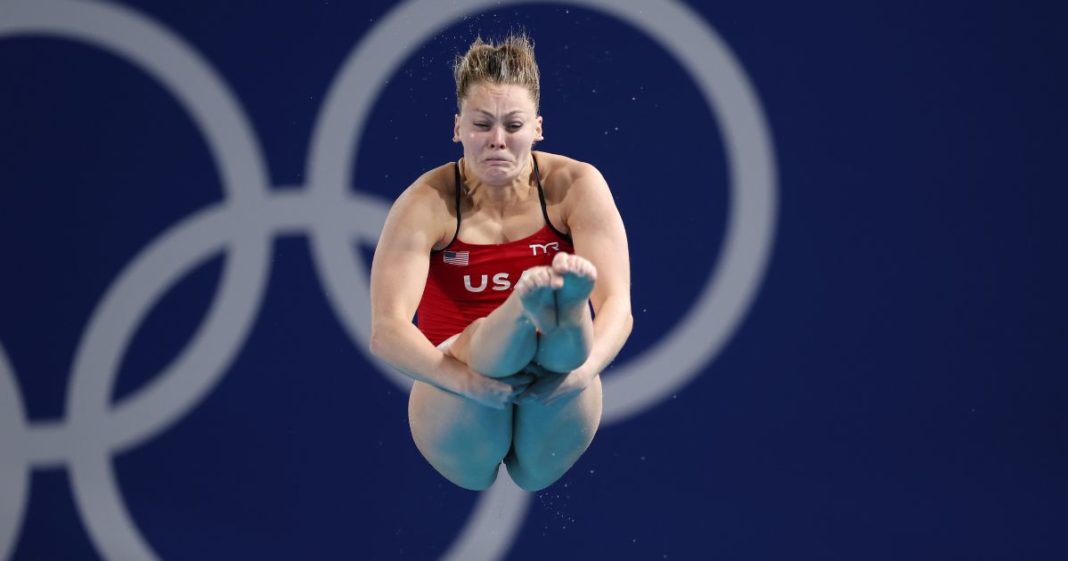
[[[512,447],[513,407],[492,409],[417,381],[408,399],[412,439],[423,457],[453,483],[489,487]]]

